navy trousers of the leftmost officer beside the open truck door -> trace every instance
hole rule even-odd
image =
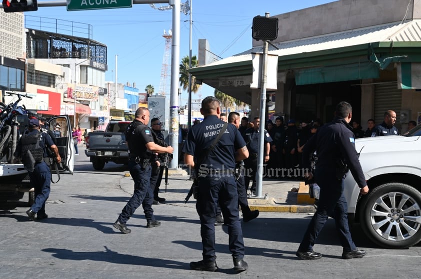
[[[37,163],[33,172],[29,172],[31,186],[35,189],[35,202],[30,207],[33,212],[41,217],[45,215],[45,201],[49,197],[51,186],[51,172],[45,162]]]

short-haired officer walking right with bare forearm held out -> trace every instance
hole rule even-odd
[[[128,168],[134,181],[133,196],[124,206],[121,214],[118,216],[113,227],[120,230],[123,234],[129,234],[126,222],[133,215],[134,211],[140,206],[147,221],[146,228],[160,226],[160,222],[155,220],[152,210],[153,193],[150,186],[150,160],[153,153],[172,153],[171,146],[162,147],[153,142],[152,132],[146,126],[149,122],[149,110],[145,107],[139,107],[134,120],[127,126],[125,137],[129,150]]]

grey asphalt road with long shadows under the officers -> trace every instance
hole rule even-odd
[[[226,227],[216,228],[216,273],[191,271],[190,261],[201,259],[199,221],[193,201],[180,199],[154,206],[162,225],[146,229],[139,208],[124,235],[112,228],[130,198],[123,166],[109,163],[95,171],[83,155],[76,156],[74,175],[61,175],[52,185],[46,205],[48,219],[28,221],[26,198],[0,208],[0,278],[419,278],[421,247],[386,250],[373,246],[353,228],[362,259],[342,260],[341,247],[329,219],[314,249],[318,261],[302,261],[295,251],[311,218],[309,214],[263,212],[242,223],[249,269],[231,270]],[[55,179],[56,177],[54,177]],[[180,182],[170,177],[168,191]],[[122,183],[122,181],[124,183]],[[126,186],[123,187],[122,184]],[[188,183],[185,183],[186,185]],[[166,194],[166,193],[165,193]],[[162,195],[164,196],[164,195]]]

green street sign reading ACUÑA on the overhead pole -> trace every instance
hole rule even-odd
[[[67,0],[67,10],[129,8],[131,0]]]

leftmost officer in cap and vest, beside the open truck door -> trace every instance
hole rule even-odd
[[[37,134],[40,133],[39,142]],[[36,143],[34,143],[35,140]],[[35,146],[34,149],[32,148]],[[30,146],[31,148],[27,148]],[[39,150],[41,148],[42,150]],[[33,169],[27,169],[29,173],[30,184],[35,189],[35,201],[30,207],[26,214],[30,220],[42,220],[48,217],[45,214],[45,201],[49,197],[50,186],[51,186],[51,172],[49,167],[44,162],[43,158],[48,157],[47,148],[52,150],[55,160],[57,162],[61,161],[61,157],[58,153],[58,148],[52,141],[51,137],[47,133],[40,132],[39,121],[35,117],[31,117],[28,123],[28,130],[24,132],[22,137],[19,139],[19,142],[16,146],[16,151],[14,153],[15,160],[21,159],[25,168],[29,163],[29,160],[25,158],[27,150],[31,150],[33,158],[35,158],[35,163],[32,166]],[[40,160],[36,160],[36,153],[40,153]],[[33,164],[33,162],[32,162]],[[36,215],[36,218],[35,218]]]

